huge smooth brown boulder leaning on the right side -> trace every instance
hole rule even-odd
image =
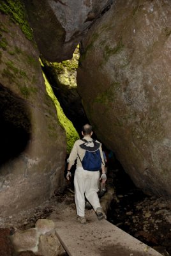
[[[117,1],[82,42],[78,90],[135,184],[171,196],[171,3]]]

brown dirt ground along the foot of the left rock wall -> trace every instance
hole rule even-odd
[[[10,235],[15,233],[15,230],[27,230],[35,227],[35,223],[39,219],[49,218],[50,214],[59,214],[68,205],[74,204],[74,194],[68,186],[61,193],[57,193],[50,200],[45,201],[40,206],[22,211],[19,214],[9,216],[8,218],[0,219],[0,256],[34,256],[31,251],[16,253],[11,244]],[[64,253],[64,255],[68,255]],[[42,256],[37,255],[36,256]],[[45,256],[45,255],[43,255]]]

